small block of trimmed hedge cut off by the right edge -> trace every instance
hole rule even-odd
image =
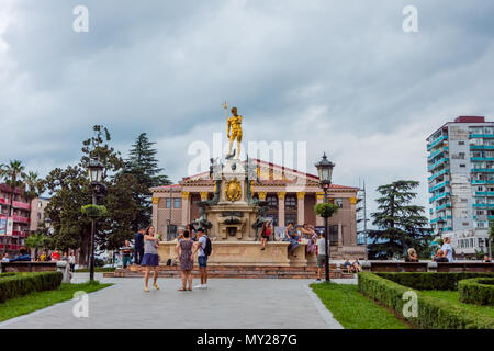
[[[462,280],[458,285],[458,292],[462,303],[494,305],[494,278]]]

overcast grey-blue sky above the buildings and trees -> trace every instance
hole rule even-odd
[[[336,183],[366,179],[371,211],[397,179],[428,208],[426,137],[494,120],[493,19],[490,0],[0,0],[0,162],[45,176],[103,124],[124,155],[146,132],[178,181],[191,141],[224,133],[226,99],[246,141],[306,141],[307,171],[325,150]]]

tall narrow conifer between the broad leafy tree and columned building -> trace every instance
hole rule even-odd
[[[132,223],[134,230],[150,223],[153,208],[149,189],[171,183],[167,176],[161,174],[164,169],[158,167],[155,144],[149,141],[146,133],[142,133],[135,144],[132,145],[128,159],[125,161],[125,171],[136,180],[132,192],[132,196],[138,206],[137,217]]]

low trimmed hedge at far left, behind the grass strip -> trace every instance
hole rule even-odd
[[[55,290],[61,284],[61,272],[19,273],[0,279],[0,303],[32,292]]]

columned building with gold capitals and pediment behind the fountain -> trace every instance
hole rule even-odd
[[[258,159],[259,182],[252,184],[254,196],[268,201],[267,216],[276,230],[289,223],[314,225],[324,230],[324,218],[314,213],[314,206],[324,201],[318,177],[303,173]],[[178,184],[157,186],[153,193],[153,225],[159,234],[172,239],[177,229],[199,218],[200,201],[213,197],[213,180],[201,173],[183,178]],[[366,258],[366,248],[357,242],[356,204],[358,188],[332,184],[328,197],[339,210],[329,218],[332,258]]]

